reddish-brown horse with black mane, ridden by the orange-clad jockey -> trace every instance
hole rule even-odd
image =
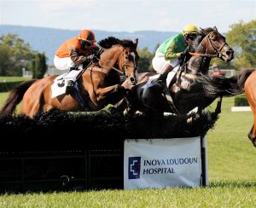
[[[138,55],[137,39],[119,40],[109,37],[99,42],[103,48],[98,64],[91,63],[78,79],[86,110],[96,111],[122,98],[125,93],[120,84],[119,72],[124,73],[129,84],[136,84],[135,77]],[[83,111],[74,94],[59,95],[51,98],[51,85],[57,76],[24,82],[11,91],[0,114],[8,115],[15,111],[17,104],[22,101],[21,114],[33,117],[36,113],[46,112],[56,108],[64,111]],[[117,94],[113,96],[112,94]],[[108,99],[108,96],[113,100]],[[117,102],[117,101],[116,101]]]

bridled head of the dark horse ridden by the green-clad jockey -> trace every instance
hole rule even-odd
[[[195,53],[190,53],[192,57],[189,60],[189,69],[195,72],[208,72],[212,58],[218,57],[225,62],[234,58],[234,50],[226,43],[216,26],[201,28],[192,49]]]

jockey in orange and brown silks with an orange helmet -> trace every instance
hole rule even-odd
[[[68,39],[55,51],[55,67],[59,70],[67,70],[70,73],[73,70],[83,69],[89,65],[90,61],[97,62],[99,57],[96,54],[99,49],[95,43],[94,32],[82,30],[78,37]],[[76,79],[67,78],[67,80],[67,91],[69,91],[73,89],[73,82]]]

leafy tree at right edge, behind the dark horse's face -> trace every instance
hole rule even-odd
[[[244,23],[240,21],[230,26],[231,30],[226,34],[227,42],[236,51],[234,66],[256,66],[256,20]]]

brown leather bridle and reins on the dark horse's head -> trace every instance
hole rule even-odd
[[[214,31],[212,31],[212,32],[214,32]],[[219,49],[217,49],[217,47],[212,43],[211,38],[209,38],[209,36],[212,34],[212,32],[209,32],[207,34],[207,36],[205,37],[205,38],[207,38],[207,50],[206,50],[206,53],[205,54],[201,54],[201,53],[197,53],[197,52],[195,52],[195,53],[189,52],[189,55],[208,57],[208,58],[215,58],[215,57],[221,58],[223,55],[220,53],[220,51],[224,48],[224,45],[227,45],[227,43],[223,43],[219,47]],[[212,49],[214,49],[215,54],[207,54],[209,43],[211,44]]]

